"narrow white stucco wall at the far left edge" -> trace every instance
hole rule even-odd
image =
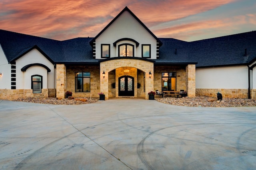
[[[11,65],[8,64],[2,46],[0,44],[0,89],[10,89],[11,88]]]

